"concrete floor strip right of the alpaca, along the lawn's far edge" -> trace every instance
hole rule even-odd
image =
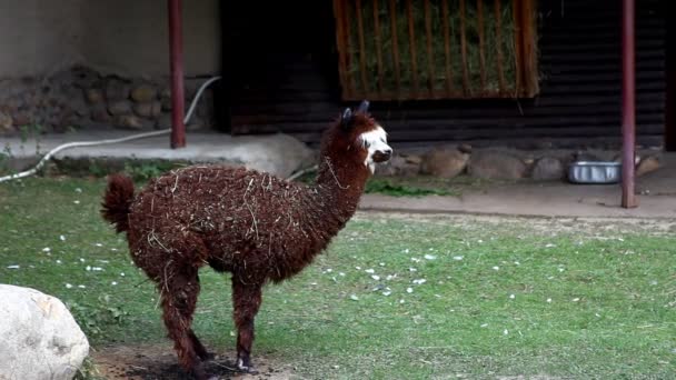
[[[460,198],[395,198],[366,194],[362,210],[460,212],[533,217],[675,218],[676,153],[663,154],[662,168],[638,178],[638,208],[620,207],[619,184],[523,182],[470,191]]]

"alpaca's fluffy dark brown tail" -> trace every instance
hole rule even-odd
[[[101,206],[101,216],[116,226],[118,233],[129,230],[129,208],[133,199],[133,182],[122,174],[108,178],[108,188]]]

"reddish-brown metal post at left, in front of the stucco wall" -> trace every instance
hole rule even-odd
[[[186,147],[183,38],[181,30],[181,0],[168,0],[169,54],[171,64],[171,148]]]

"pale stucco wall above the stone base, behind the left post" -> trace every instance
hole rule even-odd
[[[220,70],[218,0],[183,3],[187,76]],[[105,73],[169,73],[166,0],[0,0],[0,78],[43,76],[72,63]]]

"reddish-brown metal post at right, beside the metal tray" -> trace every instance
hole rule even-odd
[[[634,193],[636,147],[636,71],[635,71],[635,0],[622,0],[622,207],[635,208],[638,200]]]

